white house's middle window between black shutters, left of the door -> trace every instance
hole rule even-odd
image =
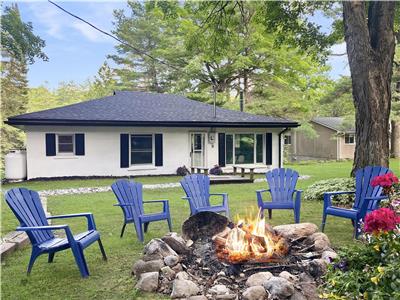
[[[143,165],[153,163],[153,135],[131,135],[131,164]]]

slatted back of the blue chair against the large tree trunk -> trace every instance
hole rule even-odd
[[[365,197],[377,197],[382,193],[382,188],[372,187],[371,180],[378,176],[389,173],[390,170],[380,166],[367,166],[356,171],[356,195],[354,201],[354,209],[360,209]],[[371,201],[368,209],[375,206],[375,201]]]

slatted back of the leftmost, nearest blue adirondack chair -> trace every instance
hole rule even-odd
[[[20,222],[21,227],[49,225],[42,202],[36,191],[14,188],[6,192],[6,202]],[[27,232],[32,245],[39,245],[54,238],[51,230]]]

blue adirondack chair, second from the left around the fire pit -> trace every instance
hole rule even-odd
[[[137,237],[142,243],[144,242],[143,227],[144,232],[147,232],[150,222],[167,220],[169,231],[172,231],[168,200],[143,201],[143,186],[139,182],[121,179],[114,182],[111,188],[118,200],[118,204],[114,204],[114,206],[121,207],[124,213],[121,237],[124,235],[126,224],[129,223],[134,224]],[[143,203],[162,203],[163,211],[160,213],[145,214]]]

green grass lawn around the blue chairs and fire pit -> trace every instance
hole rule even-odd
[[[395,168],[396,166],[396,168]],[[309,184],[319,179],[332,177],[346,177],[349,174],[351,163],[318,163],[311,165],[291,165],[301,174],[311,175],[308,180],[299,181],[299,188],[306,188]],[[393,161],[391,165],[395,173],[399,173],[399,160]],[[172,180],[173,179],[173,180]],[[171,182],[177,177],[148,177],[143,182]],[[108,180],[108,179],[107,179]],[[96,180],[94,186],[105,185],[106,179]],[[146,181],[147,180],[147,181]],[[64,182],[54,181],[44,183],[46,189],[66,187]],[[79,186],[79,181],[69,181]],[[88,186],[92,181],[81,181]],[[101,182],[101,184],[99,183]],[[111,179],[108,181],[112,182]],[[30,186],[32,183],[26,183]],[[37,183],[39,185],[39,183]],[[41,183],[43,184],[43,183]],[[90,185],[89,185],[90,186]],[[5,186],[9,188],[10,185]],[[256,206],[255,190],[265,187],[264,183],[217,185],[212,186],[214,192],[228,192],[232,216],[244,214],[246,210],[254,210]],[[41,188],[38,188],[41,189]],[[145,200],[163,199],[170,200],[171,215],[175,231],[180,231],[180,225],[188,217],[189,207],[180,199],[182,191],[180,188],[145,190]],[[47,257],[42,256],[36,261],[30,277],[25,274],[29,260],[30,247],[13,253],[2,262],[2,297],[3,299],[160,299],[159,296],[143,295],[134,290],[134,280],[130,275],[133,262],[142,253],[141,245],[134,234],[133,226],[127,227],[124,238],[119,238],[122,223],[122,212],[113,207],[115,203],[113,194],[97,193],[72,196],[49,197],[49,210],[53,215],[93,212],[97,228],[102,235],[102,240],[108,254],[108,262],[101,260],[97,245],[89,247],[85,254],[91,276],[88,279],[80,279],[78,269],[74,263],[70,251],[58,253],[53,264],[47,264]],[[160,206],[154,209],[161,209]],[[3,205],[2,223],[7,220],[7,210]],[[320,224],[322,214],[322,203],[302,202],[301,221]],[[293,214],[289,211],[274,211],[272,224],[285,224],[293,222]],[[84,230],[85,219],[68,220],[73,232]],[[57,222],[62,224],[62,221]],[[3,224],[4,225],[4,224]],[[9,224],[6,226],[10,226]],[[146,241],[154,237],[161,237],[167,232],[166,222],[152,223],[146,234]],[[328,218],[326,233],[330,237],[334,247],[353,243],[351,239],[352,227],[349,221],[340,218]]]

